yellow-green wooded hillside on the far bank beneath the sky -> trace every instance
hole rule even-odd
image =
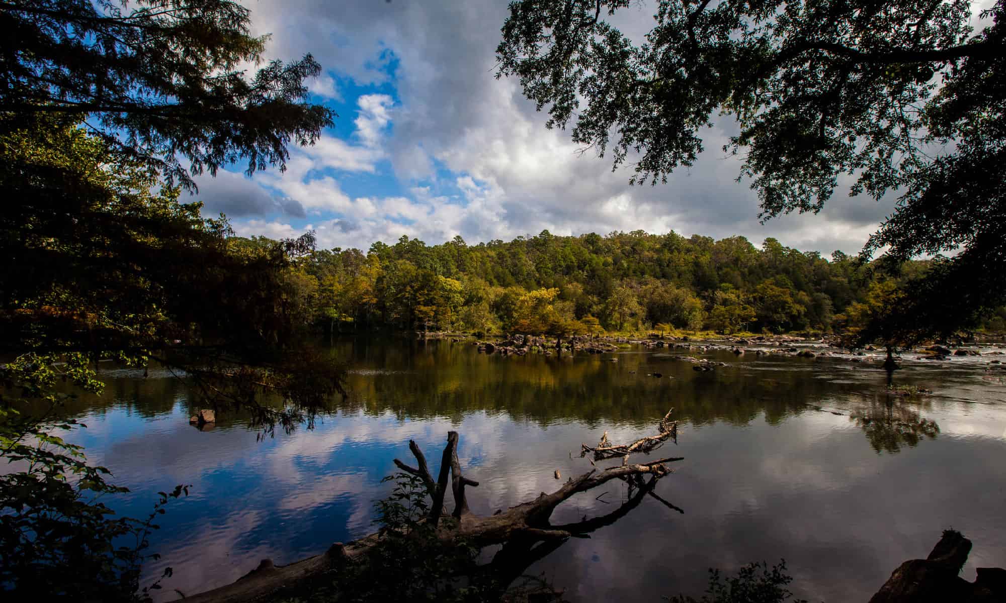
[[[269,245],[263,237],[241,244]],[[298,260],[290,303],[326,331],[415,329],[553,335],[603,332],[854,334],[929,269],[896,270],[836,251],[830,259],[769,238],[685,238],[641,230],[518,236],[468,245],[315,251]],[[999,331],[1003,312],[986,317]]]

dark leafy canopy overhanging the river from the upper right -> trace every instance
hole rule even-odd
[[[723,151],[742,156],[763,218],[820,210],[845,175],[853,195],[900,190],[864,251],[961,253],[897,312],[932,333],[1002,303],[1006,2],[975,32],[968,0],[659,0],[643,40],[606,20],[631,4],[512,2],[498,76],[549,128],[631,162],[634,183],[692,165],[728,115],[739,132]]]

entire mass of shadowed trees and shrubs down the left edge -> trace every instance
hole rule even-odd
[[[78,426],[59,407],[101,392],[102,362],[187,375],[267,428],[341,391],[292,284],[313,237],[248,246],[178,202],[192,173],[282,168],[332,114],[307,103],[310,56],[244,77],[264,39],[234,2],[11,0],[0,24],[0,589],[131,600],[185,488],[146,522],[116,517],[124,488],[57,435]]]

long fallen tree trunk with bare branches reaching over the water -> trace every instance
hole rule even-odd
[[[661,421],[663,428],[667,424],[667,416]],[[664,437],[664,433],[658,438]],[[667,435],[669,437],[669,435]],[[648,439],[648,438],[644,438]],[[662,440],[661,440],[662,441]],[[652,450],[656,444],[643,444],[633,451]],[[476,516],[471,512],[465,495],[466,486],[478,486],[479,482],[465,477],[461,463],[458,460],[458,433],[448,433],[447,446],[441,458],[438,478],[435,480],[426,456],[420,446],[412,440],[408,448],[415,457],[416,466],[412,467],[395,459],[394,464],[401,470],[421,478],[433,499],[427,523],[438,527],[438,537],[446,544],[464,540],[473,545],[484,547],[503,544],[503,548],[493,557],[484,570],[493,572],[500,577],[501,584],[509,584],[524,574],[524,571],[535,561],[542,559],[570,537],[585,537],[591,532],[615,523],[630,511],[639,506],[647,495],[654,497],[664,506],[684,513],[674,505],[658,496],[653,490],[657,480],[672,472],[665,463],[681,460],[681,458],[661,458],[646,463],[628,464],[599,469],[595,468],[575,477],[569,478],[561,487],[551,493],[541,492],[533,500],[522,502],[506,511],[498,511],[491,516]],[[627,456],[627,455],[623,455]],[[595,464],[594,461],[591,461]],[[446,509],[444,500],[448,489],[448,477],[454,496],[453,521],[444,520]],[[644,475],[649,475],[646,479]],[[621,479],[629,483],[629,499],[615,511],[599,517],[572,524],[553,526],[549,522],[552,512],[564,500],[576,493],[588,491],[613,479]],[[277,591],[299,582],[317,577],[324,572],[349,563],[363,562],[367,554],[380,542],[377,534],[371,534],[360,540],[342,544],[335,543],[322,555],[311,557],[287,566],[276,566],[271,560],[263,560],[259,568],[238,579],[232,584],[186,598],[194,603],[236,603],[238,601],[260,601],[270,597]]]

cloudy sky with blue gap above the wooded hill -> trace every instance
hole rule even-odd
[[[286,172],[245,177],[239,167],[197,179],[203,215],[222,212],[240,235],[317,233],[320,248],[394,243],[401,235],[469,244],[518,235],[671,230],[690,236],[775,237],[827,255],[858,252],[893,197],[837,190],[817,214],[760,223],[758,199],[736,182],[721,118],[706,151],[665,185],[630,186],[631,167],[577,153],[567,132],[544,127],[514,78],[495,77],[504,0],[244,0],[266,58],[311,53],[324,72],[311,100],[338,117],[313,147],[291,149]],[[645,4],[612,21],[638,37]]]

